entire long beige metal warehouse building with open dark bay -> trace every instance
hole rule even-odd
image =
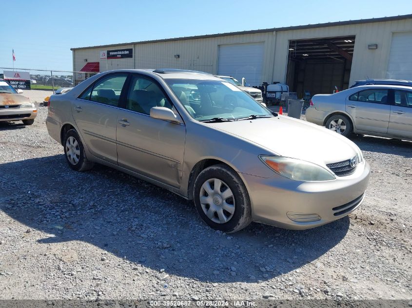
[[[71,50],[77,83],[107,70],[179,68],[313,95],[359,79],[412,80],[412,14]]]

